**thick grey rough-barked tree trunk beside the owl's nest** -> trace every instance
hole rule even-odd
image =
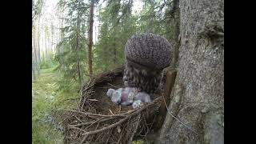
[[[170,114],[155,143],[224,143],[224,1],[180,1],[181,46]]]

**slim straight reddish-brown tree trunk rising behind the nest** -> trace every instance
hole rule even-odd
[[[92,47],[93,47],[93,26],[94,26],[94,0],[90,1],[90,20],[89,20],[89,44],[88,44],[88,61],[89,61],[89,74],[90,77],[93,75],[93,53],[92,53]]]

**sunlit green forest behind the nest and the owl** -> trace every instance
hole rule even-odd
[[[33,143],[62,143],[52,111],[75,106],[90,76],[122,65],[133,34],[178,42],[178,9],[177,0],[33,0]]]

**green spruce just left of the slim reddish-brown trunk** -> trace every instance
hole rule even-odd
[[[88,19],[86,3],[82,0],[59,1],[59,9],[66,8],[67,15],[62,27],[62,42],[58,43],[59,53],[56,60],[58,70],[62,72],[59,89],[66,92],[78,91],[82,82],[86,80],[87,41],[86,22]],[[63,49],[62,52],[61,49]]]

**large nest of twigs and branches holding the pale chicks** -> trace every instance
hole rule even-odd
[[[91,78],[82,88],[77,109],[58,110],[55,117],[64,129],[65,143],[131,143],[153,130],[164,90],[138,109],[115,105],[106,91],[123,87],[123,69],[119,66]]]

